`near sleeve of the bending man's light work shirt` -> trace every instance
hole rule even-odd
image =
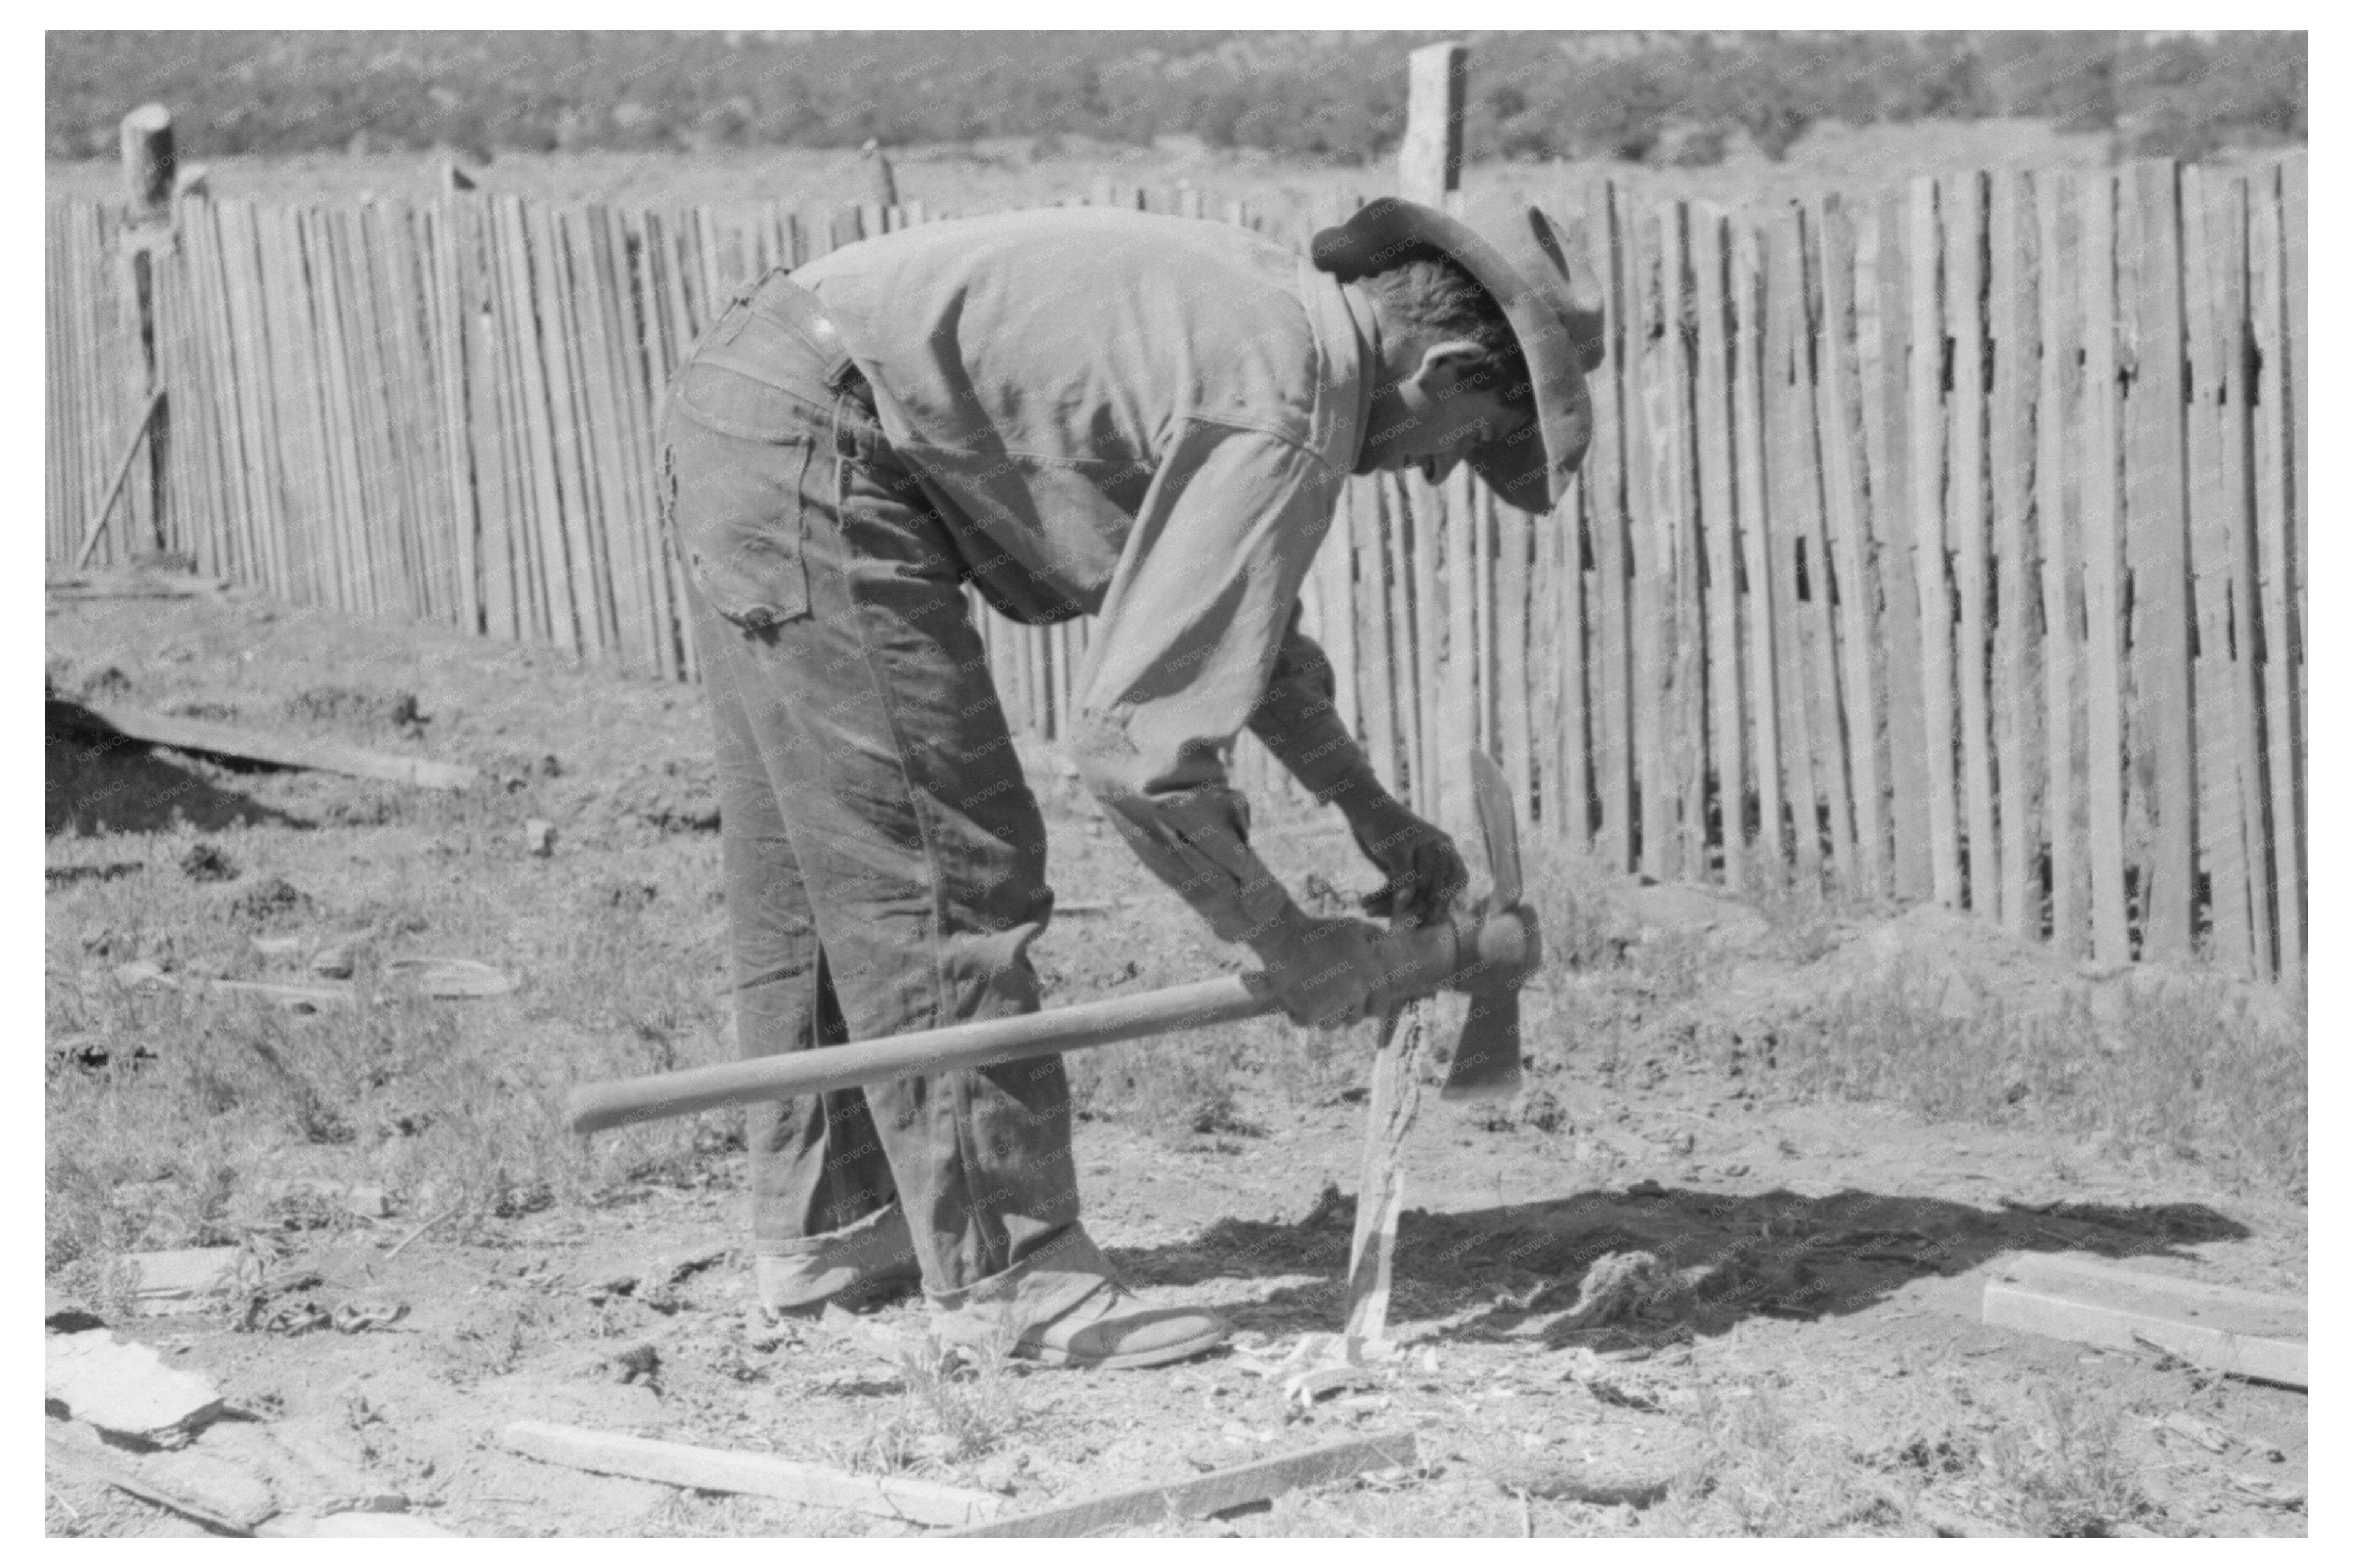
[[[1136,857],[1226,942],[1254,939],[1289,909],[1249,848],[1249,803],[1226,782],[1233,737],[1242,725],[1264,737],[1304,723],[1268,742],[1278,756],[1327,746],[1315,760],[1332,758],[1334,784],[1351,758],[1362,765],[1329,711],[1329,666],[1297,631],[1299,586],[1344,478],[1282,436],[1184,421],[1087,652],[1073,735],[1080,777]],[[1346,744],[1332,746],[1334,735]],[[1289,756],[1285,765],[1299,772]]]

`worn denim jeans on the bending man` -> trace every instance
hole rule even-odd
[[[960,546],[809,308],[781,273],[739,294],[664,414],[746,1057],[1031,1012],[1054,904]],[[899,1203],[944,1307],[1101,1271],[1059,1055],[751,1107],[748,1142],[760,1253]]]

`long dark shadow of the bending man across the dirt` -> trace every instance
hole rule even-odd
[[[1264,1302],[1224,1309],[1268,1335],[1332,1328],[1346,1311],[1355,1203],[1337,1194],[1297,1224],[1221,1220],[1165,1248],[1111,1248],[1139,1285],[1301,1274]],[[1998,1253],[2172,1255],[2247,1227],[2195,1203],[1972,1208],[1944,1198],[1840,1191],[1588,1191],[1461,1215],[1409,1210],[1398,1222],[1391,1321],[1468,1314],[1459,1337],[1591,1342],[1725,1333],[1741,1318],[1864,1311],[1922,1274],[1962,1274]],[[1635,1264],[1647,1253],[1657,1264]],[[1619,1255],[1593,1271],[1595,1260]],[[1588,1271],[1593,1281],[1588,1281]],[[1609,1300],[1598,1285],[1614,1281]],[[1595,1309],[1598,1307],[1598,1309]]]

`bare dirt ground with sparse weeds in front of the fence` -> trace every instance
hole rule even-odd
[[[1934,909],[1739,902],[1546,852],[1529,1088],[1424,1107],[1395,1363],[1311,1408],[1252,1370],[1339,1328],[1369,1057],[1369,1031],[1259,1022],[1071,1057],[1089,1229],[1146,1300],[1219,1304],[1238,1347],[1148,1373],[932,1375],[864,1335],[748,1316],[732,1116],[588,1144],[555,1125],[576,1078],[727,1055],[692,687],[242,593],[52,603],[47,662],[52,697],[485,772],[438,793],[49,737],[49,1283],[216,1380],[240,1420],[184,1453],[259,1469],[289,1514],[318,1500],[252,1457],[256,1424],[464,1535],[920,1533],[499,1443],[536,1417],[1019,1509],[1358,1431],[1419,1439],[1417,1471],[1153,1535],[2306,1530],[2301,1391],[1979,1323],[2019,1253],[2304,1293],[2301,998],[2085,970]],[[1073,906],[1038,946],[1047,1005],[1238,968],[1031,760]],[[527,819],[553,824],[551,855]],[[1311,897],[1369,885],[1337,817],[1259,824]],[[353,1019],[115,977],[146,961],[301,982],[320,944],[355,954],[362,991],[400,956],[518,986],[393,994]],[[2167,1130],[2111,1104],[2099,1085],[2134,1081],[2165,1015],[2292,1034],[2292,1154],[2278,1128]],[[1871,1076],[1885,1052],[1857,1041],[1906,1029],[1906,1059],[1960,1064],[1953,1081]],[[242,1245],[247,1285],[294,1283],[139,1314],[122,1260],[188,1245]],[[1626,1269],[1682,1283],[1612,1321],[1577,1311]],[[306,1314],[268,1311],[296,1297],[405,1311],[301,1333]],[[859,1323],[920,1347],[922,1316],[901,1300]],[[52,1471],[47,1533],[200,1528]]]

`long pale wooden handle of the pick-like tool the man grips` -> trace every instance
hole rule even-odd
[[[1381,937],[1381,965],[1400,996],[1431,994],[1445,984],[1492,977],[1497,970],[1534,968],[1534,921],[1506,911],[1478,925],[1431,925]],[[958,1067],[1019,1062],[1056,1050],[1141,1041],[1176,1029],[1207,1029],[1273,1012],[1275,982],[1264,972],[1226,975],[1141,996],[1113,996],[1075,1008],[948,1024],[880,1041],[748,1057],[678,1074],[586,1083],[572,1090],[565,1123],[574,1132],[602,1132],[661,1116],[689,1116],[727,1104],[824,1095],[854,1083],[882,1083],[944,1074]]]

